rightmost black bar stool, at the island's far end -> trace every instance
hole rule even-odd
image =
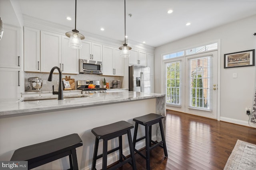
[[[143,158],[146,159],[146,168],[147,170],[150,170],[150,150],[154,149],[155,147],[159,146],[164,149],[164,156],[168,157],[167,154],[167,149],[166,149],[166,143],[164,139],[164,129],[163,129],[163,124],[162,124],[162,119],[164,116],[158,115],[155,113],[150,113],[148,115],[136,117],[133,119],[135,121],[135,129],[134,129],[134,137],[133,137],[133,146],[134,146],[134,151],[140,154]],[[152,141],[152,125],[159,123],[160,131],[161,131],[161,137],[162,141],[160,142],[155,142]],[[138,132],[138,124],[145,126],[145,136],[141,137],[140,139],[137,138],[137,132]],[[144,156],[140,151],[135,149],[136,142],[141,141],[142,139],[146,138],[146,156]],[[152,143],[155,145],[152,146]]]

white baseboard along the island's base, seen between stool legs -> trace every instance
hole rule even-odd
[[[152,136],[152,140],[156,141],[156,135]],[[141,141],[136,143],[136,147],[135,148],[137,150],[139,150],[139,149],[141,149],[141,148],[143,148],[145,146],[146,146],[145,139],[143,139],[143,140],[141,140]],[[124,154],[124,156],[129,155],[130,154],[130,148],[129,147],[128,148],[123,148],[123,154]],[[108,165],[118,161],[118,159],[119,159],[118,152],[114,152],[114,154],[108,155],[108,160],[107,160]],[[82,170],[91,170],[91,169],[92,169],[92,165],[90,165],[88,167],[85,167]],[[102,169],[102,160],[97,161],[96,169],[99,169],[99,170]]]

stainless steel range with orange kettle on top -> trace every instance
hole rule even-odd
[[[100,88],[100,81],[78,80],[77,89],[82,90],[82,94],[106,93],[106,88]]]

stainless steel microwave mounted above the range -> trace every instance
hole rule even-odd
[[[102,74],[102,62],[79,59],[79,73]]]

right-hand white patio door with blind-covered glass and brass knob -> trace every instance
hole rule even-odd
[[[185,112],[217,119],[217,51],[185,58]]]

